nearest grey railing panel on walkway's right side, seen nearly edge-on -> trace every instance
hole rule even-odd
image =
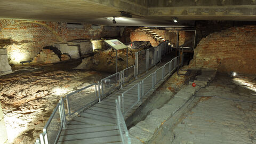
[[[119,96],[119,99],[120,99],[120,96]],[[125,124],[124,117],[121,111],[120,101],[118,102],[118,100],[116,100],[116,120],[117,120],[117,125],[118,125],[122,143],[131,144],[129,132],[127,130],[127,126]]]

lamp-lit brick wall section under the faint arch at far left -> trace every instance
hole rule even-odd
[[[31,60],[44,46],[57,42],[49,29],[36,23],[15,23],[1,30],[10,63]]]

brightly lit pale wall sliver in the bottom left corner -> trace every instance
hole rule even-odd
[[[0,103],[0,143],[4,143],[4,144],[9,143],[7,140],[7,133],[6,133],[6,128],[5,128],[4,116],[3,116],[1,103]]]

